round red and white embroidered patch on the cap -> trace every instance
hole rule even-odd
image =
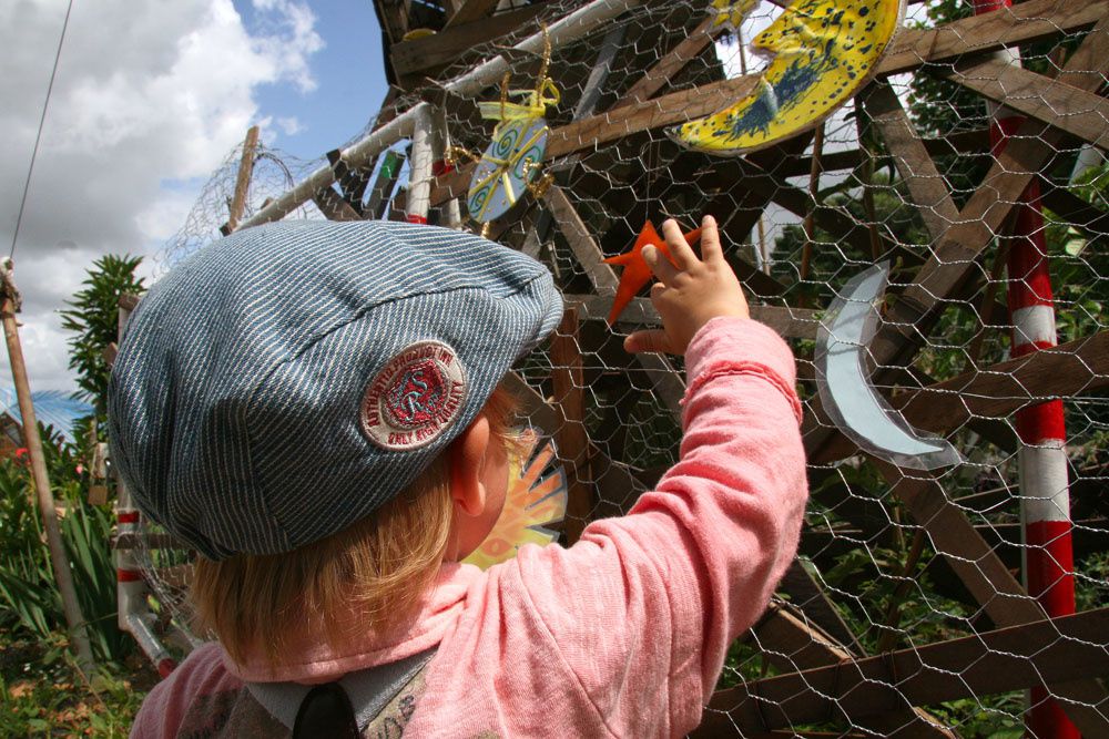
[[[377,373],[362,400],[362,429],[378,447],[426,447],[462,409],[466,372],[455,350],[441,341],[401,349]]]

